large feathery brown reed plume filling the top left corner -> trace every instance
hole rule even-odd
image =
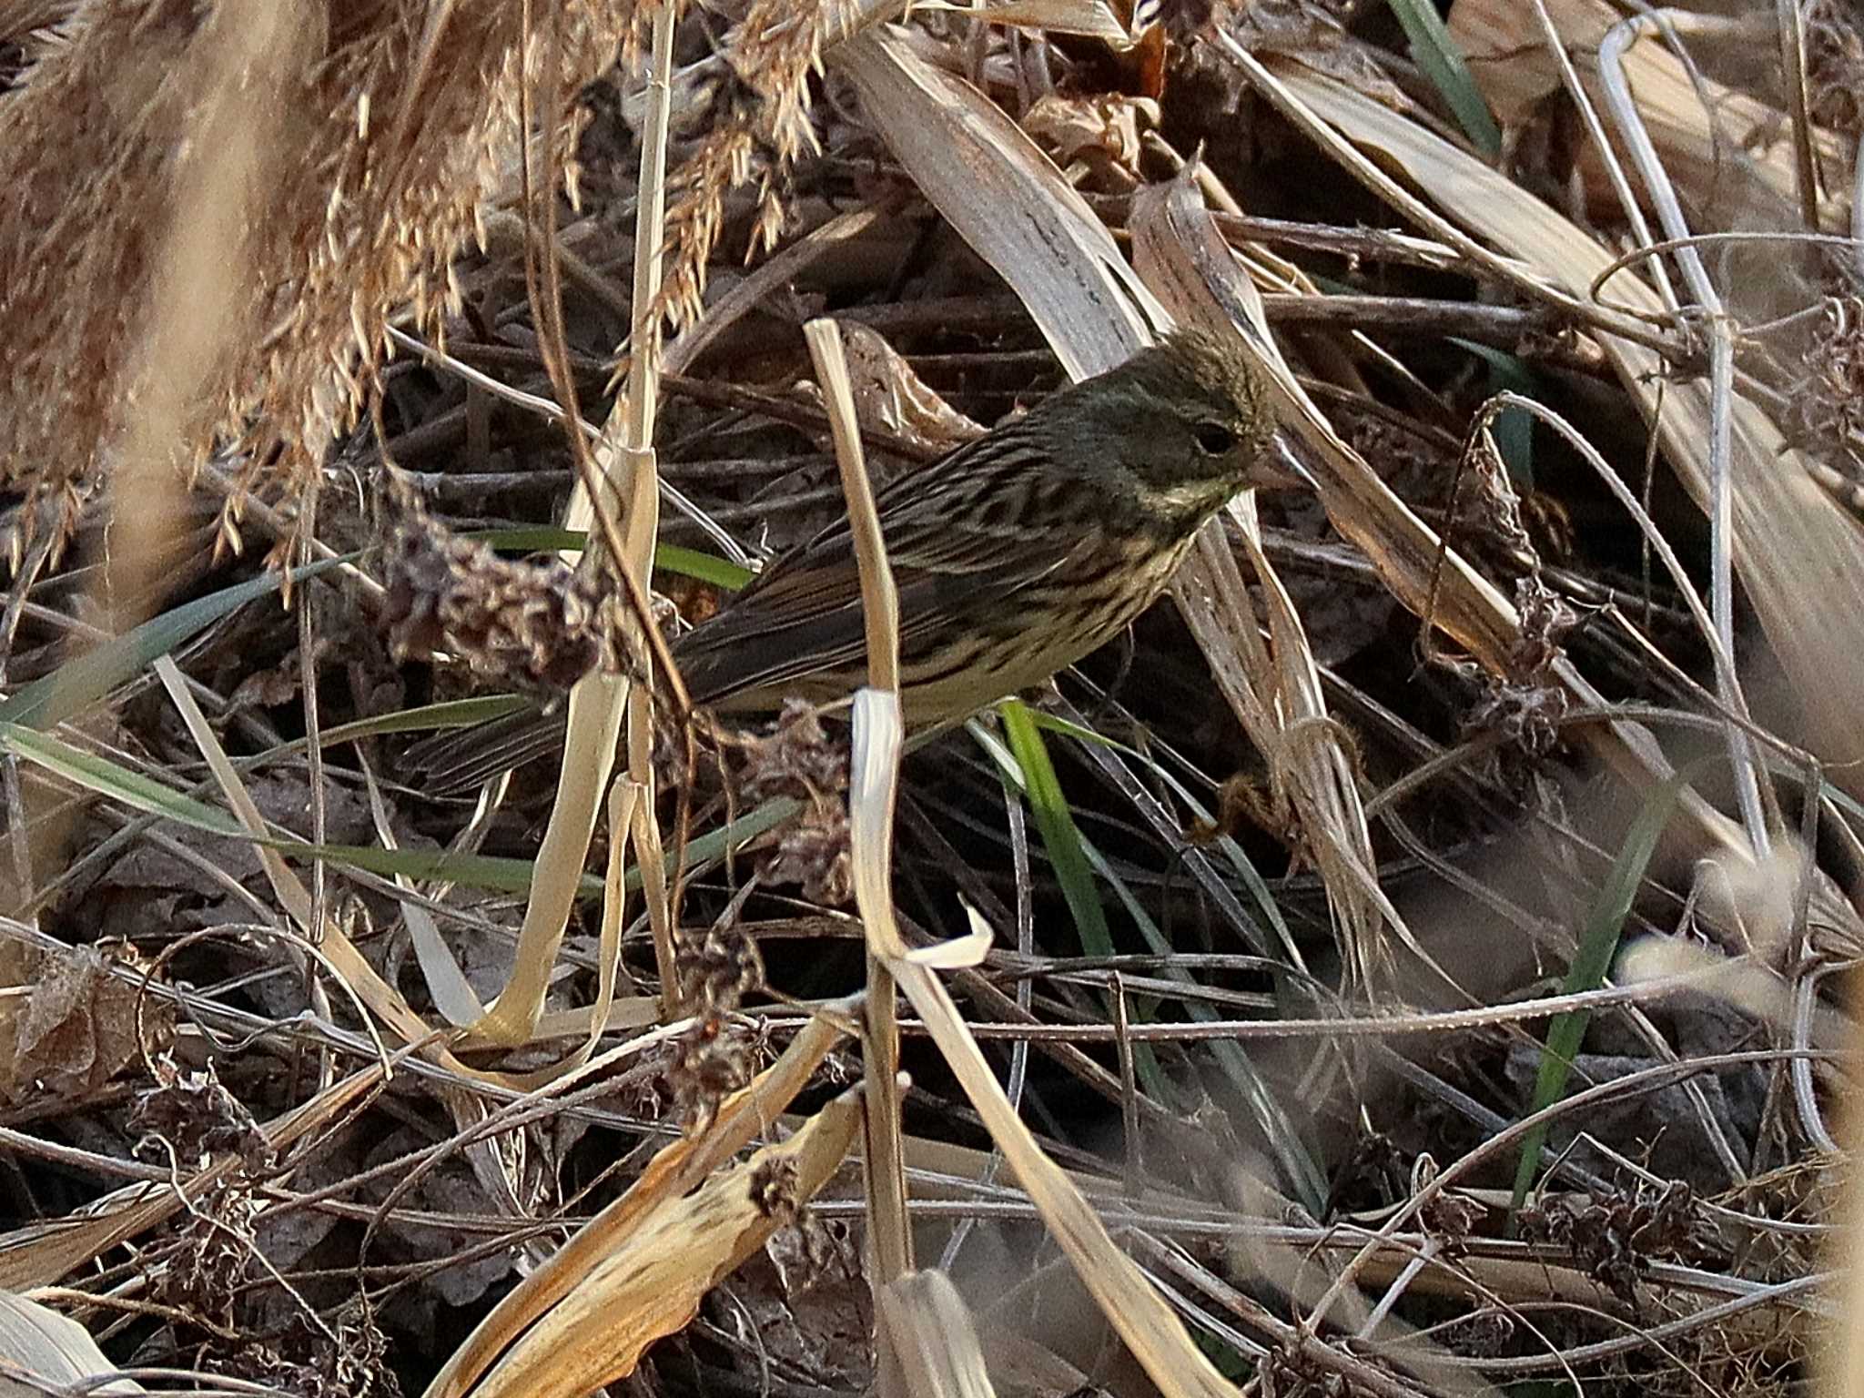
[[[550,89],[565,110],[541,123],[567,142],[570,95],[613,62],[634,15],[559,4]],[[138,410],[157,250],[190,216],[188,164],[214,158],[192,140],[201,78],[214,26],[239,13],[95,0],[0,93],[0,186],[17,201],[0,220],[0,483],[28,498],[15,563],[35,529],[69,533]],[[520,82],[544,62],[541,45],[520,52],[518,6],[313,4],[295,24],[289,63],[242,75],[270,108],[254,175],[265,216],[244,220],[239,265],[254,274],[226,291],[218,352],[175,444],[185,462],[216,440],[246,453],[229,541],[246,490],[315,481],[386,352],[384,317],[414,304],[432,322],[457,302],[451,259],[481,201],[511,183]]]

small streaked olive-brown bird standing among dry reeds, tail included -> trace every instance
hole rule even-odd
[[[1269,462],[1268,386],[1236,345],[1180,330],[1117,369],[895,481],[876,500],[900,602],[908,727],[960,720],[1117,636]],[[693,703],[775,712],[867,682],[848,520],[781,555],[673,643]],[[559,746],[561,716],[449,734],[429,788],[475,785]],[[412,755],[410,755],[412,757]]]

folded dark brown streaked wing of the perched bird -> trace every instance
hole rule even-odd
[[[1051,509],[1025,507],[1020,492],[1040,488],[1036,483],[1046,475],[1031,472],[1027,462],[992,453],[947,464],[967,470],[915,472],[876,501],[898,589],[906,658],[917,641],[971,630],[975,621],[967,617],[984,598],[1014,606],[1018,591],[1092,546],[1090,528],[1057,520]],[[1031,514],[1055,528],[1031,529]],[[675,658],[693,701],[718,703],[746,690],[846,671],[861,662],[865,647],[854,537],[841,520],[783,555],[712,621],[682,637]]]

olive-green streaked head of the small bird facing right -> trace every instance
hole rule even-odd
[[[1174,330],[1051,404],[1079,470],[1169,528],[1195,528],[1238,490],[1284,479],[1271,464],[1269,386],[1234,336]]]

